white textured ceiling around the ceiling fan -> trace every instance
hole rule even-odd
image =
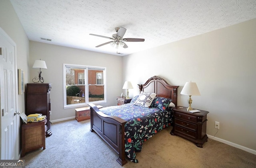
[[[128,55],[256,18],[255,0],[10,0],[28,39],[112,55]],[[115,27],[127,29],[116,49]],[[40,37],[52,39],[41,40]]]

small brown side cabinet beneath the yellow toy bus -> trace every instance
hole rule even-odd
[[[41,122],[23,123],[21,127],[22,152],[21,157],[27,152],[38,148],[45,149],[46,120]]]

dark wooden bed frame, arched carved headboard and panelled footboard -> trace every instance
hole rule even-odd
[[[156,93],[158,97],[170,98],[177,106],[177,89],[179,86],[171,86],[164,79],[153,76],[145,84],[138,84],[140,92]],[[119,157],[116,160],[121,166],[127,163],[124,151],[124,125],[126,121],[116,116],[102,113],[94,104],[90,106],[90,131],[95,131]]]

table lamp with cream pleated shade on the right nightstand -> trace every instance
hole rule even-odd
[[[198,90],[198,87],[196,85],[196,82],[186,82],[184,85],[182,91],[180,94],[188,95],[188,108],[187,111],[192,110],[191,104],[192,104],[192,99],[191,96],[200,96],[200,92]]]

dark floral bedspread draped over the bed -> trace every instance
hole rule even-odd
[[[104,107],[100,111],[127,121],[124,128],[125,152],[128,159],[135,163],[138,162],[135,152],[141,151],[143,142],[172,123],[171,111],[161,111],[155,107],[140,107],[129,103]]]

